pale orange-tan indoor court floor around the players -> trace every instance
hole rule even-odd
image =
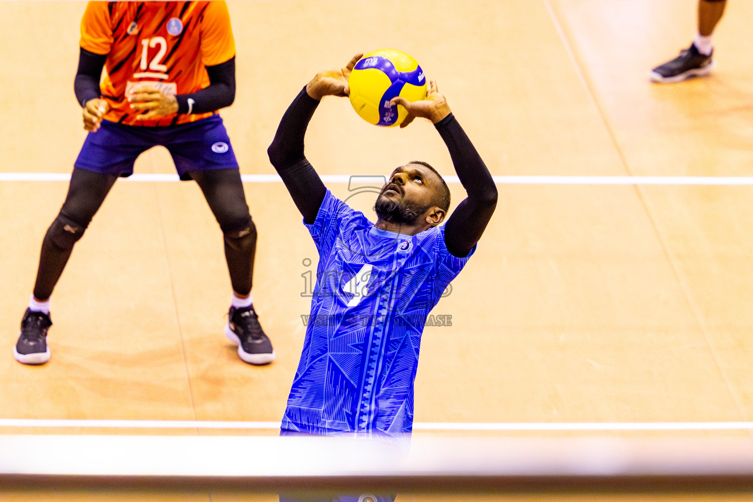
[[[72,169],[85,135],[72,93],[84,5],[0,2],[0,173]],[[751,2],[730,2],[709,78],[667,86],[650,84],[648,70],[690,43],[694,0],[229,6],[238,91],[221,115],[244,174],[273,174],[267,145],[316,71],[381,47],[412,54],[437,80],[493,175],[753,173]],[[306,152],[322,175],[387,175],[408,160],[454,175],[430,124],[378,129],[345,99],[322,103]],[[136,172],[174,171],[155,149]],[[282,184],[245,184],[259,232],[253,294],[274,364],[242,363],[222,335],[230,281],[198,188],[119,181],[53,295],[52,360],[26,367],[11,348],[66,187],[0,181],[0,418],[279,421],[309,312],[302,274],[316,269]],[[459,202],[462,187],[451,190]],[[501,184],[499,193],[477,253],[434,309],[453,326],[425,330],[416,421],[753,420],[753,186]],[[354,202],[366,211],[371,197]],[[113,431],[0,429],[72,432]],[[617,498],[647,500],[558,500]],[[691,498],[753,500],[661,500]],[[276,499],[31,490],[2,500]]]

